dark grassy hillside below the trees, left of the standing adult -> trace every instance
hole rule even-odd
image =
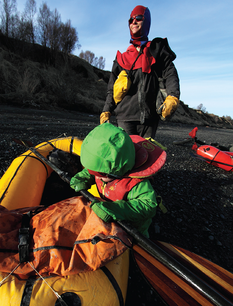
[[[51,54],[40,45],[0,35],[2,103],[100,113],[109,76],[109,71],[93,67],[75,55]]]

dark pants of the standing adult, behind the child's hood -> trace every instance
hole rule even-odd
[[[145,120],[141,125],[140,121],[117,121],[118,127],[124,129],[128,135],[139,135],[143,138],[155,138],[159,120]]]

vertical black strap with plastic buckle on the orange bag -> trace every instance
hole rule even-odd
[[[28,239],[29,239],[29,225],[30,225],[31,211],[23,214],[21,228],[19,229],[19,262],[27,263],[29,250],[28,250]]]

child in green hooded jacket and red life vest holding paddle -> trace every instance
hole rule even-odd
[[[157,206],[149,179],[155,170],[153,166],[144,169],[143,165],[148,162],[148,152],[154,145],[140,136],[135,137],[139,137],[144,148],[140,141],[133,143],[122,128],[111,123],[93,129],[81,146],[81,164],[85,168],[72,177],[70,186],[78,192],[96,184],[100,197],[105,200],[91,203],[96,215],[105,222],[126,220],[148,237]],[[164,156],[165,163],[166,153]]]

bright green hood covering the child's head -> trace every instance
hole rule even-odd
[[[135,149],[122,128],[103,123],[84,139],[80,157],[89,170],[122,176],[134,166]]]

